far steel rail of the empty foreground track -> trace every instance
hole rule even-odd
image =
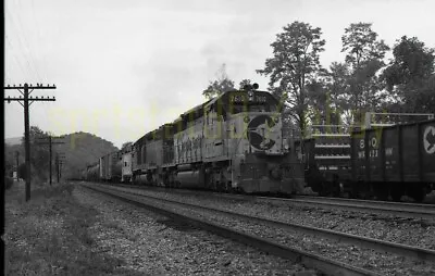
[[[347,243],[351,243],[351,244],[358,244],[360,247],[371,248],[371,249],[374,249],[377,251],[396,253],[396,254],[413,258],[415,260],[435,262],[435,250],[422,249],[422,248],[406,246],[406,244],[390,242],[390,241],[384,241],[384,240],[378,240],[378,239],[373,239],[373,238],[368,238],[368,237],[361,237],[361,236],[357,236],[357,235],[352,235],[352,234],[334,231],[334,230],[318,228],[318,227],[312,227],[312,226],[304,226],[304,225],[295,224],[295,223],[284,223],[284,222],[279,222],[279,221],[265,218],[265,217],[239,214],[239,213],[225,211],[225,210],[221,210],[221,209],[190,204],[190,203],[185,203],[185,202],[181,202],[177,200],[162,199],[162,198],[158,198],[158,197],[153,197],[153,196],[149,196],[149,195],[141,195],[141,193],[136,193],[136,192],[132,192],[132,191],[121,190],[119,188],[115,188],[112,190],[116,190],[116,191],[121,191],[121,192],[129,193],[129,195],[134,195],[134,196],[146,197],[146,198],[150,198],[153,200],[161,200],[163,202],[179,204],[179,205],[184,205],[187,208],[196,208],[196,209],[199,208],[199,209],[207,210],[210,212],[217,212],[221,214],[241,218],[241,219],[245,219],[248,222],[257,222],[257,223],[261,223],[261,224],[268,224],[270,226],[279,227],[279,228],[283,228],[286,230],[289,230],[289,229],[298,230],[298,231],[309,233],[309,234],[312,234],[315,236],[318,236],[320,234],[320,236],[322,236],[324,238],[335,239],[337,241],[343,241],[343,242],[347,242]]]

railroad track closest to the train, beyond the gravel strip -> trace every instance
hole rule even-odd
[[[137,186],[130,186],[130,185],[123,185],[123,186],[138,188]],[[166,189],[159,187],[153,187],[153,189],[167,191]],[[249,195],[234,195],[234,193],[185,190],[185,189],[174,189],[173,191],[178,193],[189,193],[189,195],[212,195],[213,197],[226,198],[232,200],[246,200],[253,202],[275,202],[282,204],[298,204],[309,208],[318,206],[318,208],[327,208],[333,210],[345,210],[345,211],[391,215],[398,217],[435,219],[435,204],[415,204],[415,203],[402,203],[402,202],[325,198],[325,197],[310,197],[310,196],[293,196],[290,199],[288,199],[288,198],[259,197]]]

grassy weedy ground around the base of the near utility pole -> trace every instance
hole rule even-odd
[[[5,275],[140,275],[123,262],[92,252],[96,210],[73,197],[74,185],[5,192]],[[116,227],[111,225],[111,227]]]

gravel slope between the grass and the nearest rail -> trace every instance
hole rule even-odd
[[[99,212],[91,227],[92,250],[124,260],[126,268],[145,275],[318,274],[85,188],[73,195]]]

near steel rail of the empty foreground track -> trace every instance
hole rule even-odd
[[[174,211],[166,210],[161,206],[156,206],[152,203],[146,203],[144,201],[138,201],[137,199],[128,198],[126,195],[120,196],[115,195],[112,192],[109,192],[107,190],[101,190],[96,187],[89,187],[88,185],[82,185],[82,187],[86,187],[90,190],[101,192],[108,196],[111,196],[113,198],[120,199],[122,201],[132,203],[134,205],[137,205],[139,208],[146,208],[152,212],[162,214],[166,217],[171,217],[174,221],[177,221],[183,224],[189,224],[195,227],[208,230],[210,233],[213,233],[215,235],[229,238],[233,240],[236,240],[238,242],[243,242],[247,246],[256,247],[262,251],[269,252],[271,254],[290,260],[293,262],[298,262],[302,263],[307,267],[315,268],[319,269],[326,275],[351,275],[351,276],[357,276],[357,275],[373,275],[377,276],[381,274],[377,274],[375,272],[371,272],[364,268],[356,267],[346,263],[337,262],[335,260],[331,260],[318,254],[309,253],[299,249],[290,248],[287,246],[279,244],[273,240],[270,239],[264,239],[260,237],[256,237],[250,234],[241,233],[235,229],[232,229],[229,227],[221,226],[214,223],[206,222],[203,219],[200,219],[198,217],[190,217],[186,216],[179,213],[176,213]],[[112,189],[113,190],[113,189]],[[126,192],[128,193],[128,192]],[[137,195],[138,197],[140,195]]]

